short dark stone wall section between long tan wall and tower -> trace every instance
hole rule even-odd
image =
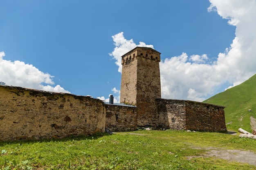
[[[137,107],[106,104],[106,129],[115,131],[133,131],[137,128]]]

